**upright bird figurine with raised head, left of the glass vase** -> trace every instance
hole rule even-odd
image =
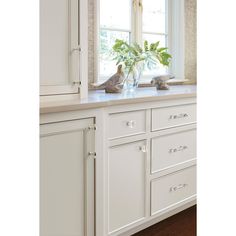
[[[100,90],[105,89],[106,93],[121,93],[122,92],[122,82],[124,81],[124,72],[122,70],[122,65],[117,67],[117,72],[112,75],[107,81],[98,86],[93,86],[94,89]]]

